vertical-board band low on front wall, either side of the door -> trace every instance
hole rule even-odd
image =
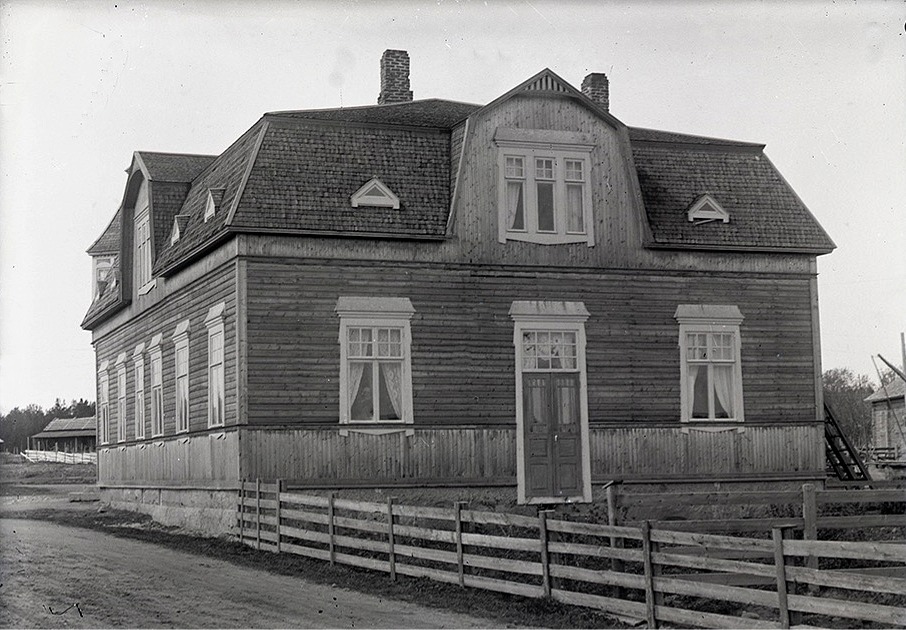
[[[821,427],[750,426],[709,433],[680,427],[594,427],[592,479],[676,479],[823,473]],[[242,477],[333,482],[516,482],[516,429],[420,428],[341,436],[334,427],[242,429]]]

